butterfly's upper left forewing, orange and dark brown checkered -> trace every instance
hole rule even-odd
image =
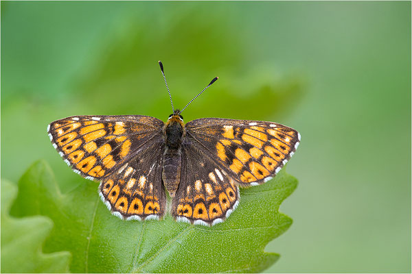
[[[76,172],[102,179],[119,169],[133,153],[161,138],[163,121],[140,115],[71,116],[47,128],[53,146]]]

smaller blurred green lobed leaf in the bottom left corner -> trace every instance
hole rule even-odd
[[[52,221],[45,216],[10,216],[15,197],[16,186],[1,180],[1,273],[68,272],[69,252],[45,254],[41,250],[53,227]]]

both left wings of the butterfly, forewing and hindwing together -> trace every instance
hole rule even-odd
[[[163,125],[150,116],[71,116],[47,132],[73,171],[102,182],[100,196],[113,214],[145,219],[165,212]]]

